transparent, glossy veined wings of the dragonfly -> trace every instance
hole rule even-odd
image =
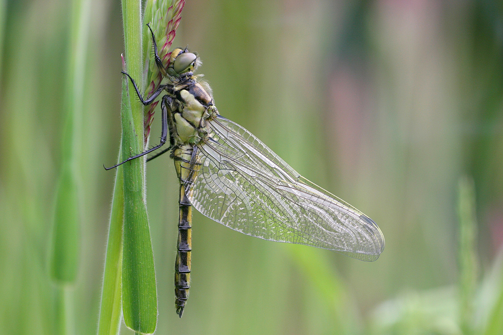
[[[218,117],[186,185],[192,205],[233,230],[375,261],[384,237],[368,216],[300,176],[241,126]]]

